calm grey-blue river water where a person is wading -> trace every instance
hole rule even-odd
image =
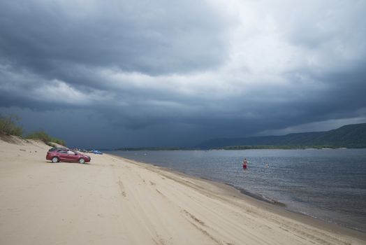
[[[291,211],[366,232],[366,149],[110,153],[228,183]]]

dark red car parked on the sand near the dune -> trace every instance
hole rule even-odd
[[[50,151],[47,152],[46,159],[51,160],[52,162],[90,162],[89,155],[80,154],[67,148],[50,149]]]

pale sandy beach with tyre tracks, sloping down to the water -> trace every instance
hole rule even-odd
[[[108,154],[54,164],[50,146],[12,139],[0,140],[0,244],[366,244],[221,183]]]

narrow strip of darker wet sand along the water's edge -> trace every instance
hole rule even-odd
[[[207,181],[208,183],[210,183],[214,186],[217,186],[218,188],[221,188],[222,190],[228,192],[228,193],[226,193],[226,195],[233,195],[234,197],[241,198],[245,202],[249,202],[251,204],[257,205],[258,207],[271,211],[274,214],[278,214],[280,216],[285,216],[286,218],[293,218],[302,223],[305,223],[307,225],[312,225],[316,228],[326,230],[328,232],[337,232],[337,233],[340,232],[340,233],[344,233],[345,235],[358,237],[360,239],[365,240],[365,243],[366,243],[366,232],[363,232],[363,230],[357,230],[356,228],[349,228],[349,227],[346,227],[346,225],[342,225],[342,224],[338,224],[338,223],[331,223],[328,221],[323,221],[321,218],[316,218],[313,216],[309,216],[307,214],[302,214],[300,212],[286,209],[286,204],[277,202],[276,200],[272,200],[270,198],[268,198],[268,200],[267,200],[267,199],[265,199],[265,197],[262,197],[261,195],[258,195],[256,193],[251,193],[242,188],[237,188],[229,183],[214,181],[214,180],[210,180],[210,179],[207,179],[204,177],[199,177],[199,176],[191,176],[184,172],[179,172],[175,169],[170,169],[168,167],[154,165],[154,164],[151,164],[148,162],[138,162],[136,160],[124,158],[119,155],[113,155],[110,153],[107,153],[107,155],[112,155],[113,157],[120,158],[122,160],[125,160],[126,162],[131,162],[136,165],[147,165],[149,167],[155,167],[159,170],[177,174],[179,176],[184,176],[185,178],[196,179],[196,180],[200,180],[200,181]]]

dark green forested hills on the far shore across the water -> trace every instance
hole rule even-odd
[[[235,147],[234,147],[235,146]],[[240,147],[242,146],[242,147]],[[366,123],[345,125],[326,132],[305,132],[282,136],[221,138],[204,141],[197,148],[260,148],[346,147],[366,148]],[[252,147],[258,148],[258,147]]]

